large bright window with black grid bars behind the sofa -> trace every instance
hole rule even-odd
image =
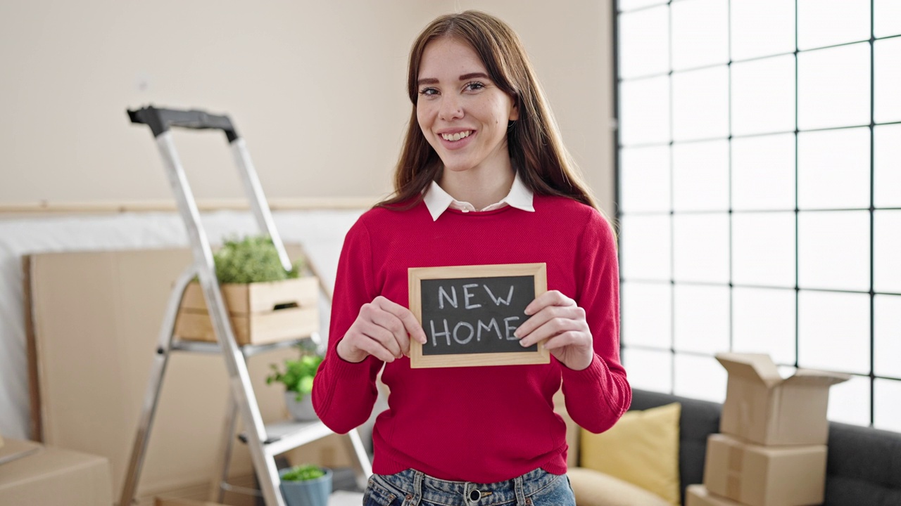
[[[722,402],[720,351],[852,375],[901,431],[901,3],[620,0],[617,220],[636,388]]]

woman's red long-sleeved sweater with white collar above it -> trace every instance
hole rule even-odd
[[[409,211],[364,213],[347,234],[332,303],[329,349],[313,390],[325,425],[344,433],[369,419],[384,362],[353,364],[336,347],[359,308],[376,296],[408,306],[407,268],[547,264],[548,290],[587,312],[595,358],[573,371],[551,356],[537,366],[411,369],[387,364],[388,409],[373,430],[377,474],[414,468],[474,483],[507,480],[542,467],[566,473],[566,425],[551,398],[563,384],[569,415],[602,432],[632,401],[619,357],[619,274],[610,226],[595,209],[568,198],[534,196],[535,212],[448,209],[432,221],[424,203]]]

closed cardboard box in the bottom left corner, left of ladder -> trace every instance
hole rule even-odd
[[[35,450],[36,451],[33,451]],[[102,456],[10,439],[8,451],[32,450],[0,465],[0,504],[110,506],[113,484]]]

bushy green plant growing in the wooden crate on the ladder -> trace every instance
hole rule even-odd
[[[286,271],[278,258],[278,250],[268,236],[226,239],[213,255],[219,283],[264,283],[296,278],[305,270],[298,260]]]

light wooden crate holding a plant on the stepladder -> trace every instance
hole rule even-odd
[[[238,345],[305,338],[319,330],[319,280],[315,277],[221,288]],[[180,339],[216,341],[197,282],[187,285],[181,298],[175,334]]]

